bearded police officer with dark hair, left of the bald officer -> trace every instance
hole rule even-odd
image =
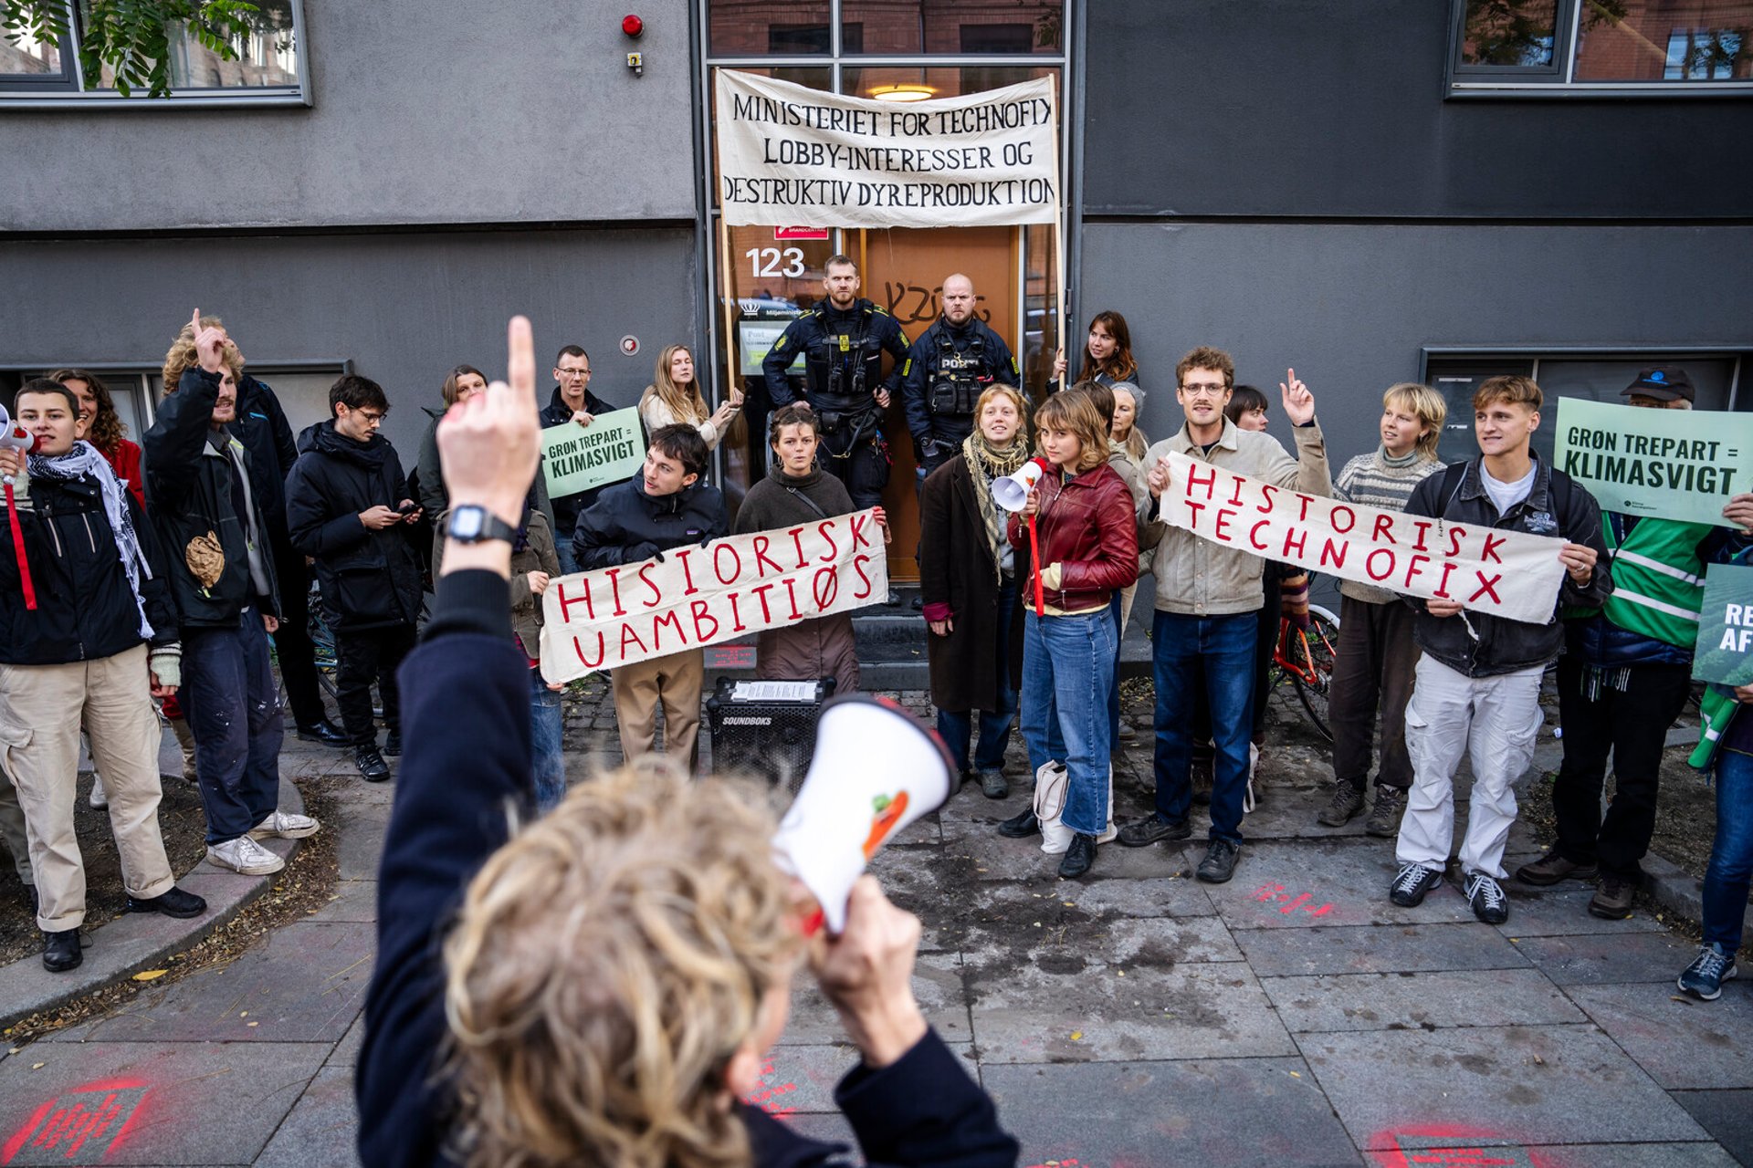
[[[882,503],[889,485],[889,443],[882,436],[882,412],[901,383],[906,366],[906,334],[887,312],[859,298],[859,266],[847,256],[827,261],[822,289],[827,299],[785,326],[785,333],[761,362],[773,408],[791,405],[785,369],[803,354],[803,398],[822,420],[822,469],[847,485],[852,506]],[[882,376],[882,354],[894,368]]]

